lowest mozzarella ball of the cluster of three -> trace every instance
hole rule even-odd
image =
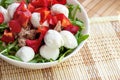
[[[47,45],[43,45],[40,48],[40,55],[45,59],[56,60],[59,56],[59,48],[51,48]]]

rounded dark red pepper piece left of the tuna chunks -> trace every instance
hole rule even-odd
[[[11,20],[9,22],[9,27],[13,33],[19,33],[21,31],[21,26],[16,20]]]

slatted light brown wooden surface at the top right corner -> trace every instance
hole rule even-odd
[[[79,0],[89,17],[120,15],[120,0]]]

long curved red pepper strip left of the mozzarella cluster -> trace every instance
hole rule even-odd
[[[40,33],[40,37],[36,40],[26,40],[26,45],[31,47],[35,53],[37,53],[47,31],[48,27],[38,28],[37,32]]]

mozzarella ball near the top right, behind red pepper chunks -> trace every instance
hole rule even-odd
[[[62,5],[62,4],[54,4],[51,7],[51,12],[52,12],[53,15],[62,13],[66,17],[68,17],[68,14],[69,14],[68,8],[65,5]]]

